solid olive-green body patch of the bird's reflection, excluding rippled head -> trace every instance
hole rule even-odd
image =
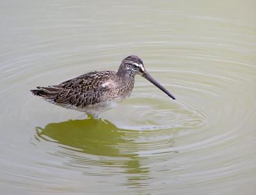
[[[44,128],[36,127],[36,136],[45,141],[60,143],[61,147],[93,155],[122,157],[115,147],[119,143],[129,143],[124,139],[125,129],[118,129],[108,120],[92,118],[85,120],[68,120],[50,123]]]

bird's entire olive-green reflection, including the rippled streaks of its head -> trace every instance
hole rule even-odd
[[[136,131],[119,129],[108,120],[95,122],[92,118],[36,127],[38,141],[51,141],[61,147],[54,155],[68,157],[70,160],[64,164],[79,168],[120,168],[118,170],[125,173],[128,185],[139,187],[142,180],[147,180],[149,170],[141,167],[141,161],[145,162],[147,158],[138,155],[136,138]]]

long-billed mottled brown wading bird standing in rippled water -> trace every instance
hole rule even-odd
[[[175,99],[147,73],[143,61],[136,55],[125,57],[117,72],[92,71],[59,85],[36,87],[31,92],[54,105],[89,113],[97,120],[100,113],[115,107],[131,95],[135,75],[143,76]]]

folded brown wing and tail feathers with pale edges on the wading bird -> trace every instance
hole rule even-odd
[[[37,87],[31,92],[60,106],[85,107],[99,103],[102,94],[111,89],[104,83],[111,80],[115,80],[113,71],[93,71],[67,80],[60,85]]]

